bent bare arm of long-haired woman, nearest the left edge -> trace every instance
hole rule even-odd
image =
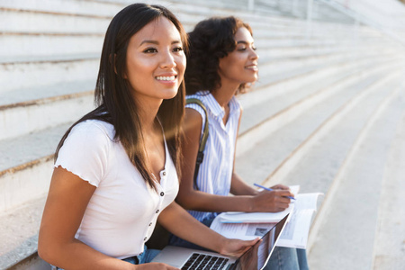
[[[40,224],[40,257],[64,269],[139,269],[139,266],[108,257],[75,238],[94,190],[94,185],[66,169],[60,166],[54,169]],[[163,264],[155,266],[175,269]]]

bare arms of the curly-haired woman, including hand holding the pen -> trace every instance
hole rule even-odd
[[[284,211],[290,203],[289,190],[257,193],[239,177],[232,177],[231,192],[237,196],[220,196],[195,190],[193,174],[202,130],[199,112],[186,108],[184,116],[182,179],[176,202],[196,211]],[[236,182],[234,182],[236,180]]]

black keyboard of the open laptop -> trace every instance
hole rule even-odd
[[[205,254],[193,253],[182,267],[182,270],[217,270],[222,269],[229,259],[225,257],[215,257]]]

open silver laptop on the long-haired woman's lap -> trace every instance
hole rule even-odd
[[[182,270],[188,269],[263,269],[275,249],[275,244],[280,237],[289,214],[275,226],[267,230],[256,245],[247,249],[241,257],[227,257],[219,253],[202,251],[198,249],[166,246],[160,251],[152,262],[165,263]]]

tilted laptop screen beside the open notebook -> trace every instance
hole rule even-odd
[[[288,220],[289,214],[287,214],[283,220],[280,220],[275,226],[268,230],[266,234],[255,245],[247,249],[247,251],[238,258],[235,265],[231,269],[237,270],[260,270],[266,266],[267,261],[270,258],[277,239],[280,237],[284,229],[284,225]]]

